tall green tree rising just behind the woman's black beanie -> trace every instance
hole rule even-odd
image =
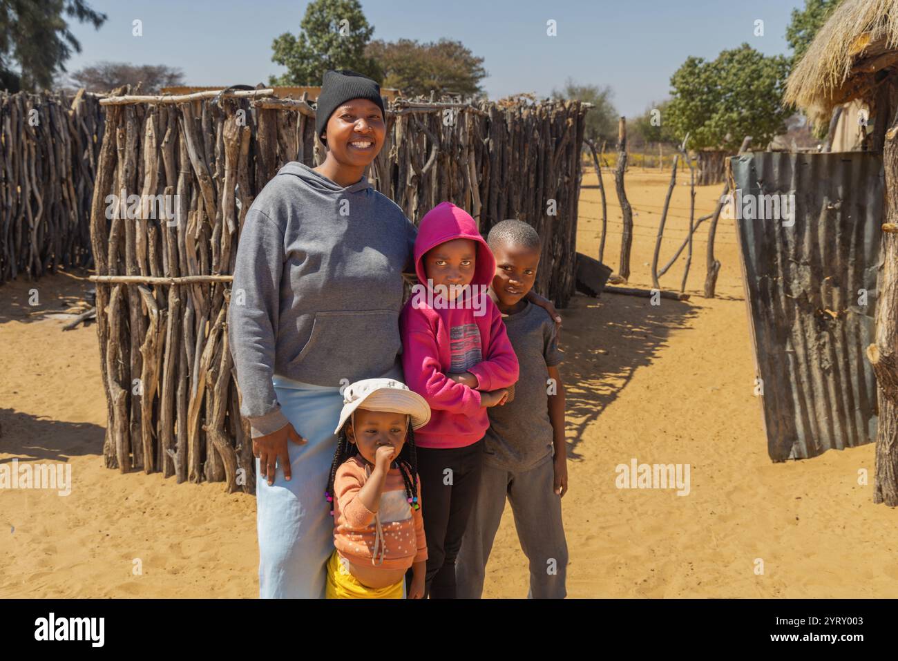
[[[285,32],[271,44],[271,61],[286,66],[286,74],[269,76],[269,84],[320,85],[328,69],[352,69],[380,83],[383,73],[365,55],[372,34],[358,0],[313,0],[299,34]]]

